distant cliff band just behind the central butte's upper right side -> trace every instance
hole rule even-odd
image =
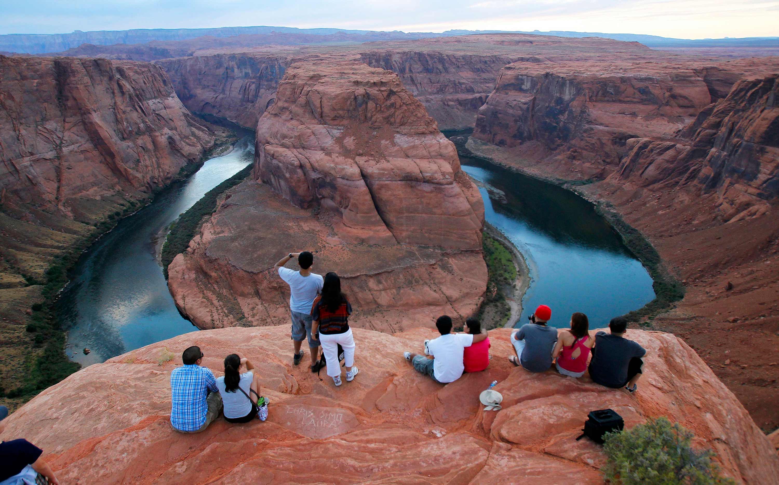
[[[396,72],[442,129],[471,128],[476,111],[495,88],[500,69],[516,55],[440,51],[367,51],[360,59]]]

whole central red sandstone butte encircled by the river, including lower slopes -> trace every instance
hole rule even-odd
[[[356,326],[396,332],[476,311],[487,281],[481,196],[396,74],[299,62],[257,134],[257,181],[227,192],[168,269],[192,322],[287,323],[289,290],[273,264],[305,249],[315,271],[343,278]]]

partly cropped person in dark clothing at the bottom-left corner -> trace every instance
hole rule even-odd
[[[0,434],[8,424],[5,421],[7,416],[8,408],[0,406]],[[41,455],[41,448],[24,439],[0,442],[0,482],[23,485],[40,482],[39,476],[43,476],[50,485],[59,485],[57,476]]]

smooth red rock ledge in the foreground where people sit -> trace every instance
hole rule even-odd
[[[743,483],[773,483],[779,473],[770,441],[675,336],[630,331],[649,353],[640,390],[629,395],[586,376],[513,367],[505,329],[490,333],[488,370],[449,385],[402,357],[421,351],[434,331],[354,334],[360,374],[340,388],[291,365],[285,327],[178,336],[41,392],[9,417],[3,438],[44,448],[64,483],[602,483],[601,448],[575,438],[591,409],[611,407],[627,427],[654,416],[679,421]],[[200,434],[172,431],[169,374],[189,345],[201,347],[217,375],[228,353],[256,363],[268,420],[220,418]],[[499,412],[478,405],[492,380],[503,395]]]

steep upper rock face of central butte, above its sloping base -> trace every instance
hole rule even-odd
[[[254,175],[295,206],[332,210],[355,242],[481,248],[478,189],[390,71],[293,65],[257,125]]]

